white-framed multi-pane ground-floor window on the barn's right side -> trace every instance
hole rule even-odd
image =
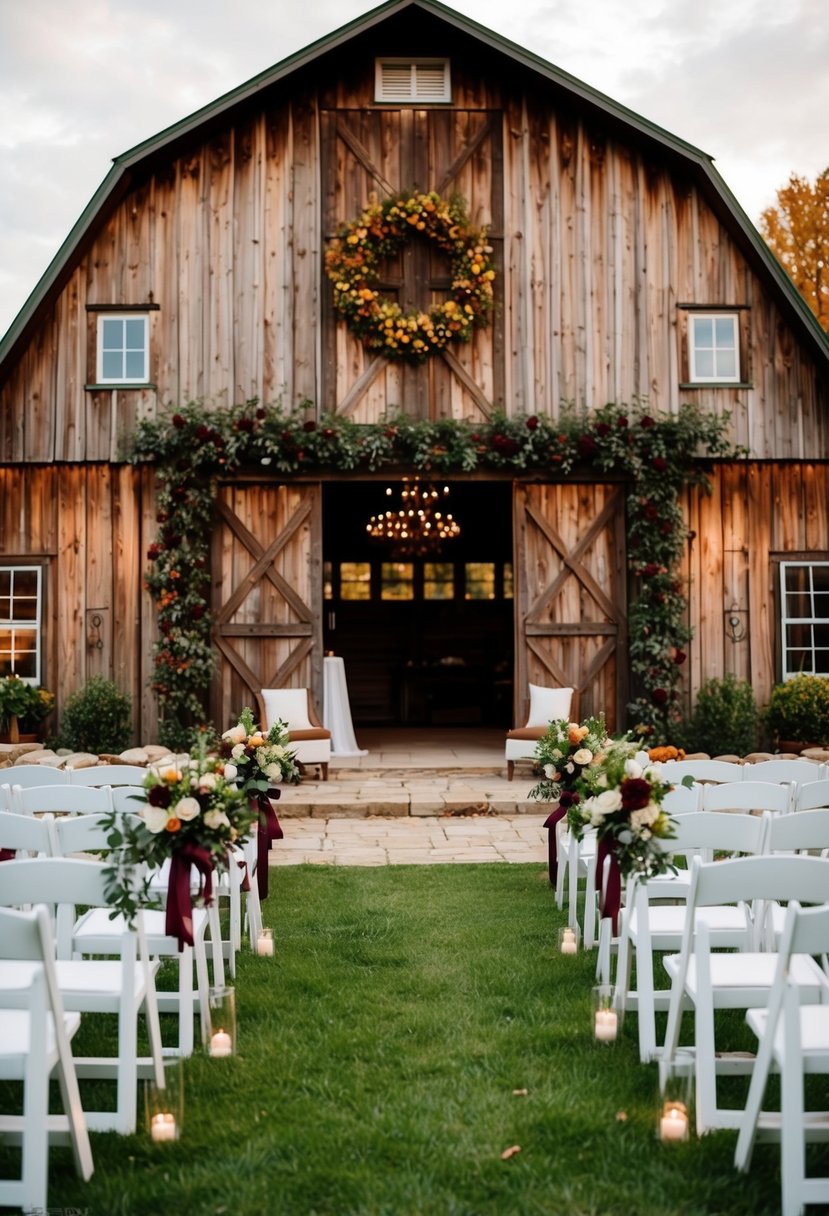
[[[780,562],[783,679],[829,676],[829,562]]]

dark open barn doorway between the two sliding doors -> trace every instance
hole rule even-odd
[[[323,486],[323,644],[345,663],[356,726],[511,725],[511,486],[434,484],[461,534],[404,554],[366,529],[401,478]]]

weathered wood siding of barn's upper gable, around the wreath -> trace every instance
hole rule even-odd
[[[0,460],[113,460],[162,404],[253,396],[359,421],[697,400],[732,411],[757,458],[829,458],[811,350],[688,167],[451,36],[435,34],[451,54],[450,107],[376,106],[377,47],[361,41],[136,169],[0,387]],[[453,361],[412,370],[372,365],[334,321],[322,254],[372,190],[413,185],[466,196],[473,223],[492,226],[500,276],[492,323]],[[85,388],[88,308],[150,303],[153,388]],[[746,387],[681,387],[683,304],[743,310]]]

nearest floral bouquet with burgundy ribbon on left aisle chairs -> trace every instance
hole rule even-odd
[[[224,759],[170,756],[147,771],[143,794],[136,794],[137,820],[113,811],[103,820],[111,854],[107,895],[114,912],[129,922],[141,907],[153,906],[152,879],[170,862],[167,933],[193,945],[191,867],[199,874],[197,900],[213,900],[213,872],[227,869],[229,849],[243,843],[256,821],[256,807],[226,773]]]

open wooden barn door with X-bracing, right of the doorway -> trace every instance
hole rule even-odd
[[[580,716],[622,728],[627,700],[625,494],[614,485],[514,490],[515,721],[528,685],[573,686]]]

